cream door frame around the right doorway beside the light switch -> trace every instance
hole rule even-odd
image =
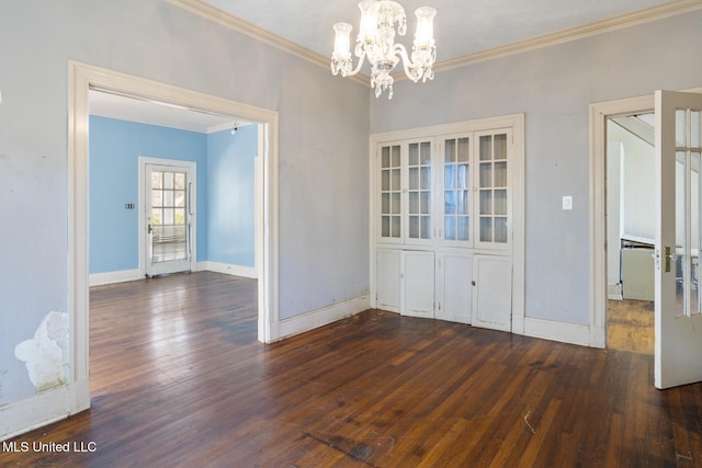
[[[702,88],[684,90],[702,92]],[[590,346],[607,347],[607,119],[653,112],[654,93],[590,104]]]

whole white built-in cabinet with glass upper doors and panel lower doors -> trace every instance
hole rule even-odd
[[[375,307],[511,330],[514,246],[523,246],[514,242],[514,219],[523,224],[518,117],[372,138]]]

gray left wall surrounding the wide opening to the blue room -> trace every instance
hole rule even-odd
[[[367,294],[365,87],[159,0],[1,10],[0,404],[34,395],[14,346],[68,308],[69,59],[278,111],[281,316]]]

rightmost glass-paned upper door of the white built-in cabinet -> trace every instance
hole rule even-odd
[[[478,137],[478,241],[507,244],[509,241],[508,135]]]

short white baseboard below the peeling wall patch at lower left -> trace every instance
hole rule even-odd
[[[0,441],[45,426],[90,408],[88,381],[0,406]]]

